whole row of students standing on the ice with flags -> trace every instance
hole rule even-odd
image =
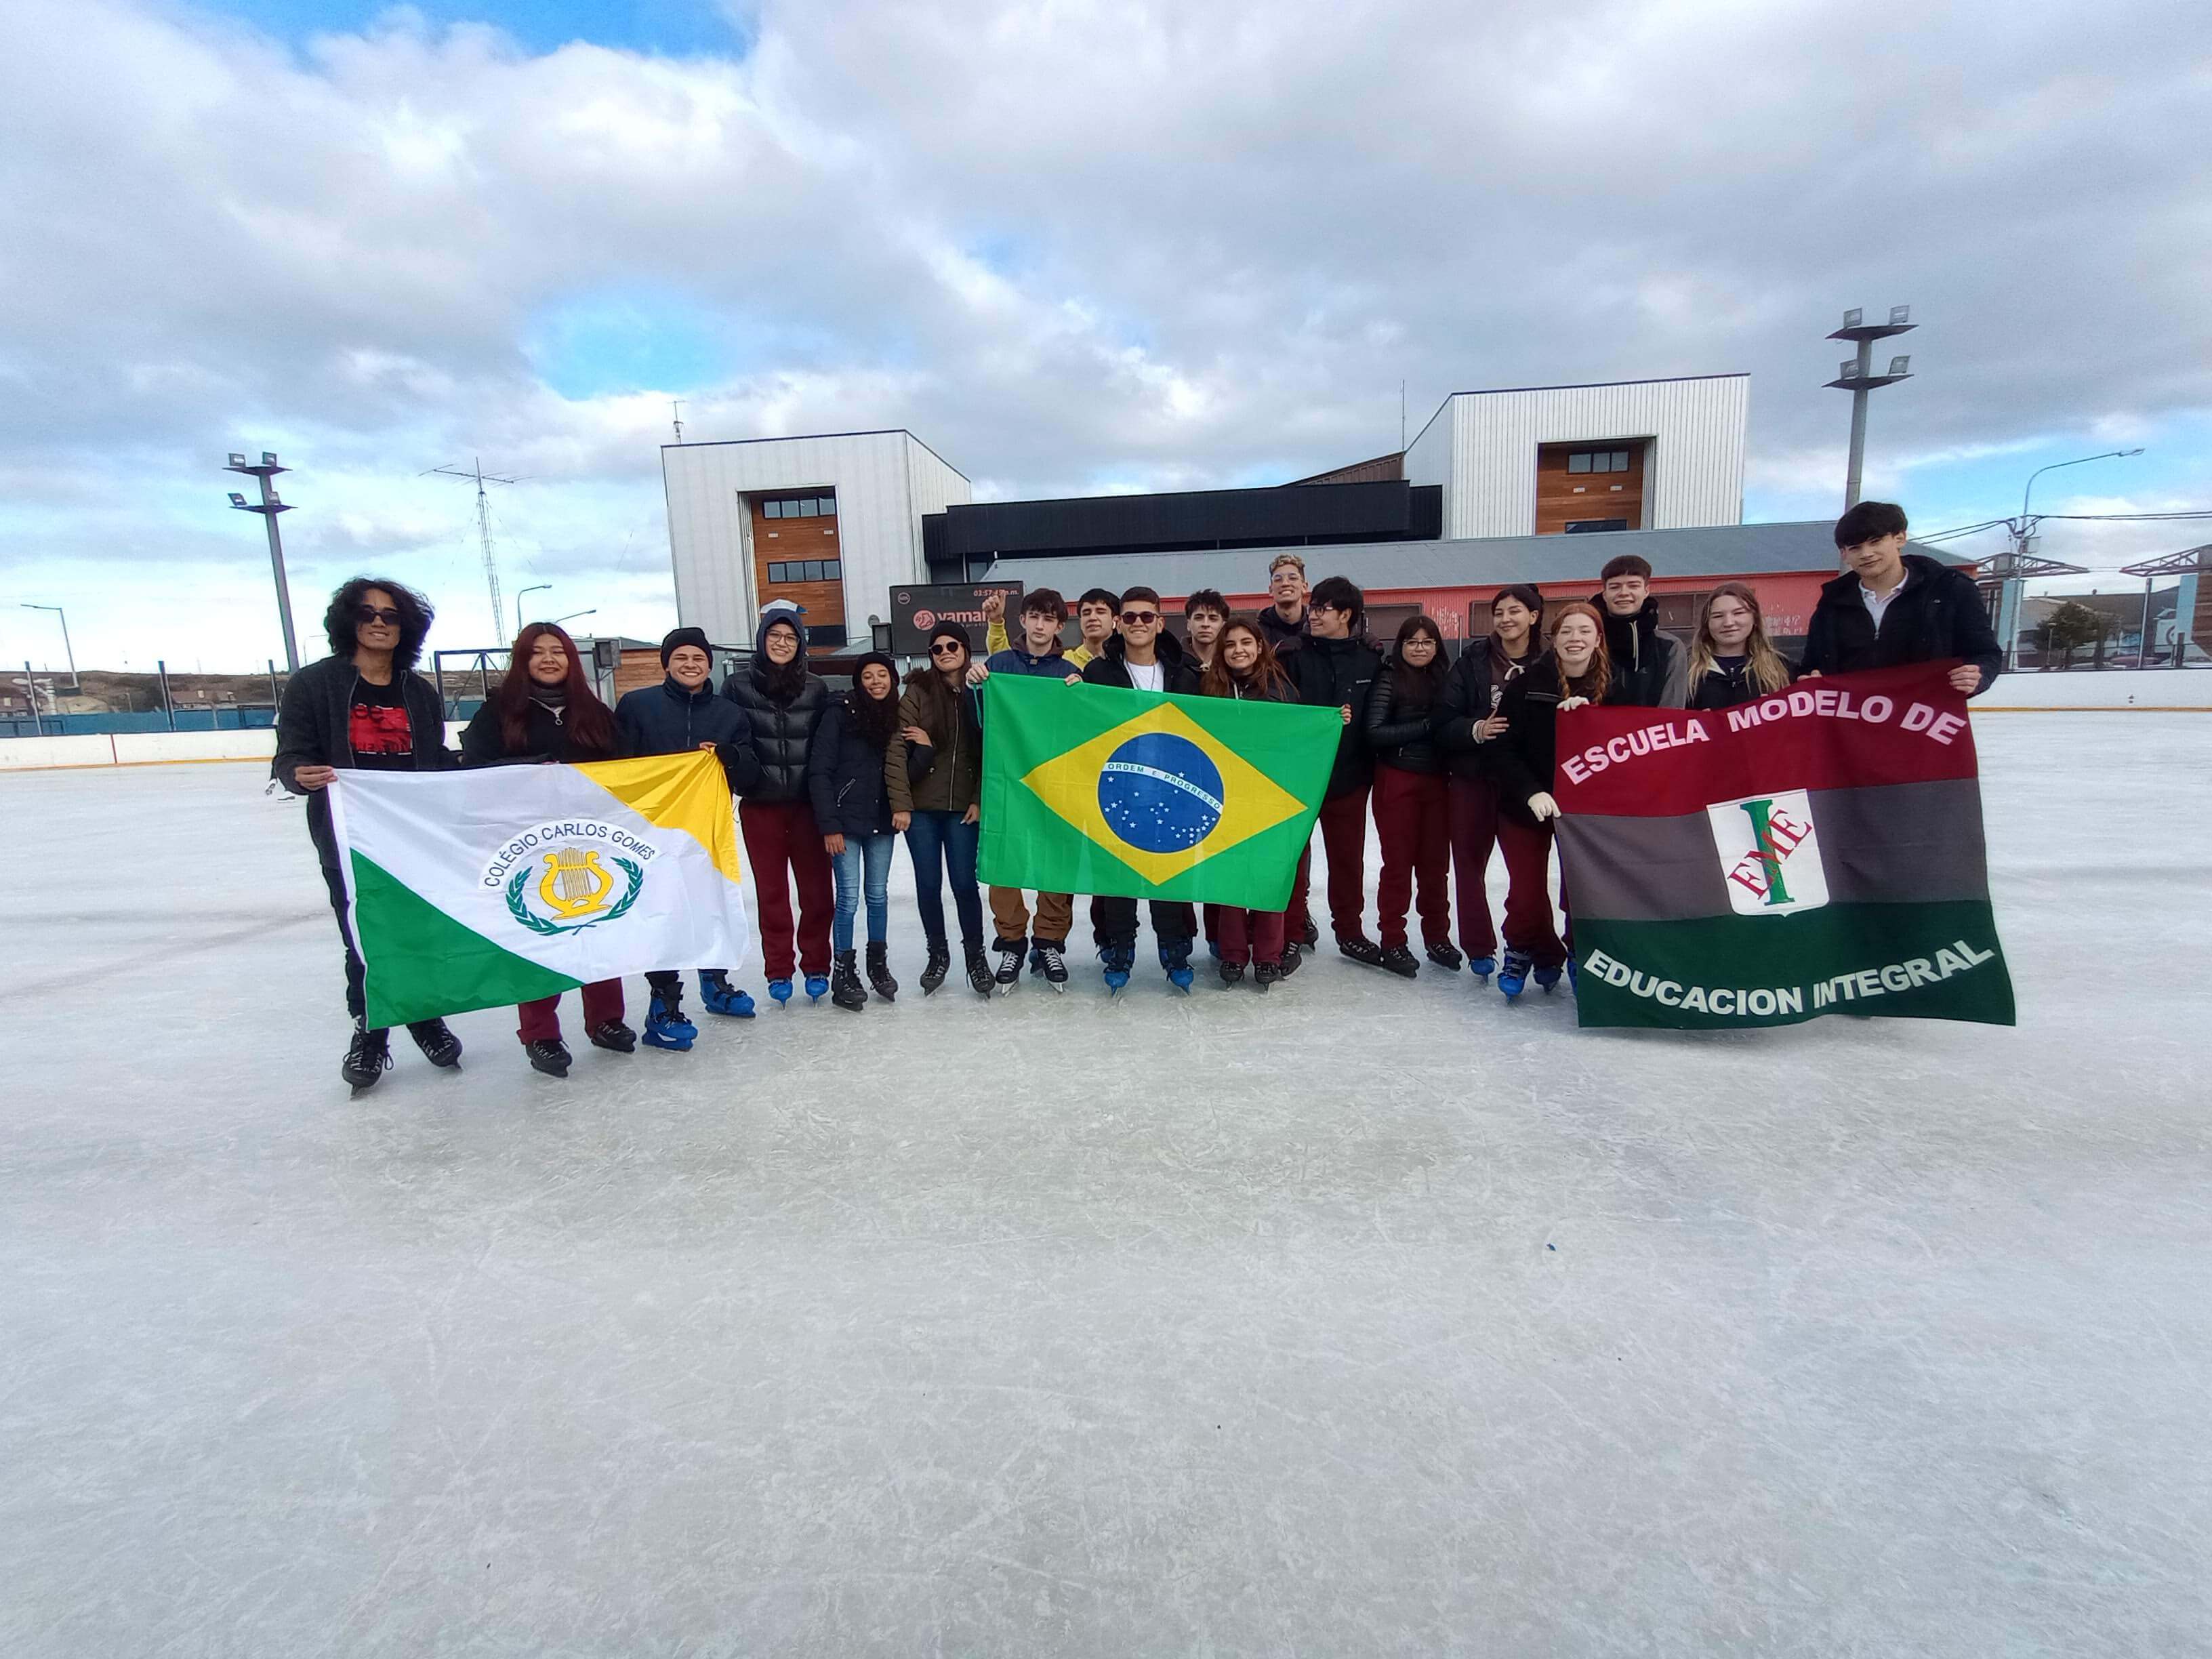
[[[1447,659],[1442,628],[1409,617],[1380,648],[1365,635],[1365,597],[1332,575],[1312,586],[1305,562],[1281,553],[1270,604],[1234,613],[1212,591],[1183,604],[1183,637],[1168,630],[1159,595],[1093,588],[1075,604],[1079,644],[1062,650],[1068,606],[1051,588],[1022,597],[1009,633],[1004,604],[984,604],[987,655],[956,622],[929,633],[929,661],[900,681],[898,664],[869,650],[852,664],[852,688],[834,692],[807,668],[805,626],[790,608],[761,617],[754,655],[717,690],[712,650],[699,628],[661,641],[666,677],[608,710],[591,690],[575,641],[538,622],[518,635],[507,677],[460,737],[460,765],[599,761],[708,748],[737,796],[737,823],[752,869],[768,995],[790,1002],[794,980],[810,1000],[830,995],[860,1011],[869,995],[898,995],[889,967],[887,889],[902,836],[914,865],[927,958],[922,993],[951,973],[945,889],[960,925],[969,987],[1011,989],[1024,967],[1066,987],[1073,894],[991,887],[984,949],[975,849],[982,810],[982,706],[991,675],[1040,675],[1188,697],[1272,699],[1336,708],[1340,730],[1318,812],[1327,854],[1327,911],[1336,949],[1402,978],[1420,973],[1409,911],[1429,962],[1478,982],[1498,978],[1506,998],[1528,980],[1553,989],[1573,973],[1571,933],[1551,902],[1551,794],[1555,721],[1582,703],[1730,708],[1803,675],[1911,661],[1962,659],[1951,681],[1984,690],[2002,653],[1973,582],[1936,560],[1907,553],[1907,520],[1889,502],[1860,502],[1836,522],[1843,575],[1825,584],[1805,655],[1790,664],[1767,637],[1759,595],[1723,582],[1697,617],[1688,648],[1659,628],[1650,566],[1610,560],[1590,599],[1548,602],[1513,584],[1491,602],[1491,633]],[[292,677],[279,712],[274,776],[307,796],[307,827],[345,942],[347,1009],[354,1033],[341,1075],[372,1086],[392,1064],[389,1033],[367,1026],[363,964],[345,911],[330,807],[323,792],[341,768],[438,770],[456,765],[445,745],[438,695],[414,661],[431,608],[400,584],[356,577],[332,595],[325,633],[332,655]],[[1546,644],[1548,635],[1548,644]],[[1378,938],[1367,936],[1367,818],[1383,869],[1376,885]],[[1486,891],[1491,849],[1506,865],[1502,927]],[[1261,991],[1298,969],[1318,945],[1310,914],[1312,849],[1301,854],[1285,911],[1150,902],[1159,964],[1188,991],[1197,940],[1208,942],[1223,984],[1250,978]],[[1458,936],[1453,938],[1455,878]],[[792,902],[796,889],[796,909]],[[856,953],[865,909],[867,956]],[[1130,982],[1137,900],[1091,898],[1091,931],[1113,991]],[[1502,964],[1500,964],[1502,936]],[[995,964],[991,960],[995,953]],[[646,975],[644,1042],[690,1048],[697,1024],[684,1011],[675,969]],[[706,1011],[752,1018],[752,998],[721,969],[697,969]],[[529,1062],[566,1075],[557,998],[518,1011]],[[619,980],[582,991],[584,1035],[628,1053],[639,1033],[624,1024]],[[460,1060],[442,1020],[409,1026],[434,1066]]]

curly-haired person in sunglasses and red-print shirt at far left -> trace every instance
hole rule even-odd
[[[330,909],[338,916],[345,945],[345,1011],[354,1035],[338,1075],[374,1088],[392,1066],[392,1033],[372,1031],[363,998],[365,969],[345,916],[345,876],[338,841],[330,827],[330,785],[338,772],[449,772],[458,765],[445,745],[445,708],[427,679],[414,672],[429,635],[434,611],[414,588],[383,577],[356,575],[330,595],[323,635],[330,655],[301,668],[283,688],[276,710],[274,776],[292,794],[307,796],[307,838],[323,865]],[[422,1057],[440,1068],[460,1064],[460,1037],[445,1020],[407,1026]]]

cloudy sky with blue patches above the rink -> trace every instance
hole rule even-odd
[[[672,622],[659,445],[911,427],[978,495],[1279,482],[1453,389],[1752,374],[1747,518],[2212,507],[2201,0],[0,9],[0,661],[279,653],[389,571]],[[250,484],[248,484],[250,489]],[[2117,566],[2212,524],[2051,524]],[[1995,549],[1995,542],[1991,542]],[[533,597],[540,611],[540,597]],[[303,641],[305,644],[305,641]]]

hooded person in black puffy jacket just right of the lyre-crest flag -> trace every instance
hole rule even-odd
[[[807,670],[807,637],[796,611],[772,608],[761,617],[752,661],[721,684],[721,695],[745,717],[745,741],[759,765],[759,776],[739,792],[737,830],[761,907],[768,995],[790,1004],[796,964],[807,975],[807,998],[818,1002],[830,991],[836,900],[823,830],[807,799],[807,761],[830,688]],[[799,889],[796,927],[792,887]]]

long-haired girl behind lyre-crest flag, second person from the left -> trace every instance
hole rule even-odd
[[[460,732],[462,765],[549,765],[622,757],[615,714],[591,688],[582,653],[557,624],[533,622],[515,635],[507,677]],[[626,1055],[637,1033],[622,1022],[622,980],[582,991],[584,1037],[593,1048]],[[566,1077],[571,1055],[560,1040],[560,995],[515,1006],[522,1053],[546,1077]]]

